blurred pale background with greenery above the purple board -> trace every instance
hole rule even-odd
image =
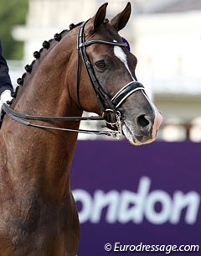
[[[105,2],[1,0],[0,38],[13,85],[45,39],[93,16]],[[127,0],[107,2],[107,16],[111,18],[121,12]],[[131,6],[131,19],[121,35],[137,56],[138,80],[164,117],[158,139],[201,141],[201,2],[132,0]],[[90,123],[82,126],[89,128]]]

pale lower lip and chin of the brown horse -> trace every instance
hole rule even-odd
[[[155,138],[150,138],[145,135],[137,135],[133,126],[130,123],[124,122],[122,124],[122,132],[126,139],[135,146],[152,143]]]

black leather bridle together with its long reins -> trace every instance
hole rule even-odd
[[[32,116],[23,114],[17,111],[14,111],[11,107],[7,104],[3,104],[3,111],[13,120],[17,121],[18,123],[22,123],[23,125],[32,126],[35,128],[48,128],[60,131],[67,131],[67,132],[75,132],[75,133],[88,133],[88,134],[96,134],[96,135],[107,135],[111,137],[120,138],[122,135],[121,129],[121,112],[118,110],[118,107],[121,106],[122,102],[126,100],[132,93],[138,90],[144,90],[144,86],[138,81],[131,81],[126,86],[123,86],[120,91],[116,92],[116,95],[110,98],[106,92],[104,91],[103,87],[100,85],[97,77],[95,76],[95,71],[93,65],[90,62],[90,59],[86,53],[86,47],[90,46],[91,44],[107,44],[107,45],[114,45],[120,47],[126,47],[125,43],[118,43],[118,42],[110,42],[101,39],[90,39],[85,41],[85,24],[88,22],[85,21],[80,25],[80,29],[78,32],[77,38],[77,76],[76,76],[76,93],[77,93],[77,102],[81,107],[80,104],[80,97],[79,97],[79,84],[80,84],[80,55],[82,60],[85,64],[85,69],[87,74],[90,78],[91,85],[95,91],[95,95],[100,102],[101,109],[103,112],[102,116],[92,116],[92,117],[44,117],[44,116]],[[115,122],[111,122],[115,117]],[[25,120],[24,120],[25,119]],[[52,126],[46,125],[39,125],[35,123],[31,123],[26,120],[39,120],[39,121],[106,121],[106,126],[108,128],[113,129],[113,131],[93,131],[93,130],[82,130],[82,129],[70,129],[70,128],[57,128]]]

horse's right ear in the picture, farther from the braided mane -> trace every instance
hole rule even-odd
[[[126,26],[131,15],[131,3],[127,3],[126,8],[114,18],[111,19],[110,24],[117,30],[121,30]]]

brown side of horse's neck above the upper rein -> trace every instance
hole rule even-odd
[[[31,74],[24,79],[15,108],[22,112],[51,116],[81,116],[72,95],[75,77],[72,77],[70,45],[54,43],[52,48],[36,60]],[[76,47],[76,46],[75,46]],[[75,73],[75,72],[74,72]]]

